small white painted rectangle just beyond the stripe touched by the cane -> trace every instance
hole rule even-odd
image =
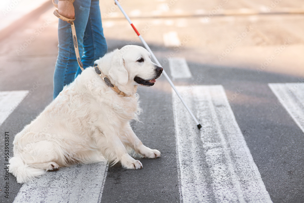
[[[170,58],[169,68],[172,79],[192,78],[185,58]]]

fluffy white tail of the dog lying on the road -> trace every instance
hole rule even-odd
[[[17,178],[18,183],[27,183],[33,180],[34,177],[45,173],[42,169],[36,169],[26,165],[19,157],[12,157],[9,159],[9,163],[9,172]]]

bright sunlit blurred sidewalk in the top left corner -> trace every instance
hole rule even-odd
[[[0,40],[52,5],[51,0],[1,0]]]

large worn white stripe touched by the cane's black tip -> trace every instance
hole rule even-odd
[[[199,131],[172,93],[182,200],[272,202],[223,86],[176,88],[202,124]]]

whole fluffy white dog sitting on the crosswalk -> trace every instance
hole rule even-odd
[[[96,61],[99,70],[86,68],[30,124],[15,136],[9,171],[18,183],[28,182],[45,171],[73,163],[108,159],[124,168],[140,169],[127,149],[149,159],[160,157],[134,134],[130,120],[138,120],[138,84],[154,85],[163,68],[150,60],[143,47],[127,45]],[[107,76],[110,83],[98,74]],[[124,94],[111,87],[115,85]]]

